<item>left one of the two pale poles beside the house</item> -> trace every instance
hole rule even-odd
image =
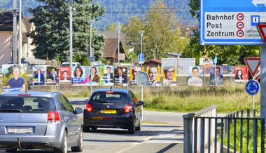
[[[13,64],[17,64],[17,1],[13,0]]]

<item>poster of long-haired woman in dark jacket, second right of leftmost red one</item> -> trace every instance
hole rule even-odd
[[[86,84],[89,85],[90,81],[92,81],[92,86],[99,86],[99,77],[100,77],[100,72],[99,72],[99,66],[93,66],[92,71],[90,71],[90,67],[86,68]],[[92,74],[91,74],[92,73]]]

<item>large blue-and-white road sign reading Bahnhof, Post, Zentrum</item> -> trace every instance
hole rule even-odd
[[[200,45],[263,45],[265,0],[200,0]]]

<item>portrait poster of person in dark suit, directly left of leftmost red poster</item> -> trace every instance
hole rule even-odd
[[[59,67],[50,67],[46,69],[46,85],[59,85],[60,71]]]

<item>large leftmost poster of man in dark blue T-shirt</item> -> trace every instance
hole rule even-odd
[[[27,65],[2,65],[3,91],[27,90]]]

